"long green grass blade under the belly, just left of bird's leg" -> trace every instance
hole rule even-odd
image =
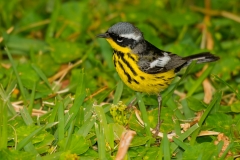
[[[149,119],[148,119],[145,104],[144,104],[143,99],[142,99],[142,95],[141,95],[141,93],[136,92],[136,96],[137,96],[137,100],[138,100],[138,106],[139,106],[139,109],[140,109],[141,114],[142,114],[146,134],[147,134],[147,136],[151,137],[152,133],[150,131],[150,122],[149,122]],[[150,147],[150,142],[147,143],[147,146]]]

